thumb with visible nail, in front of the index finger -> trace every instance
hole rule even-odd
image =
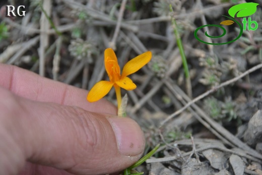
[[[132,165],[143,153],[143,132],[131,119],[31,101],[9,91],[2,99],[8,99],[0,101],[0,110],[11,116],[6,121],[15,124],[11,137],[16,133],[14,143],[24,153],[24,161],[75,174],[103,174]]]

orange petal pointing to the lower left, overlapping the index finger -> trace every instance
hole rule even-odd
[[[110,81],[99,81],[87,94],[87,100],[89,102],[95,102],[103,98],[112,88],[114,83]]]

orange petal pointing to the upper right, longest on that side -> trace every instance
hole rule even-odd
[[[129,62],[127,62],[123,67],[121,78],[126,77],[140,70],[151,60],[151,57],[152,57],[151,51],[147,51],[145,53],[138,55],[137,57],[130,60]]]

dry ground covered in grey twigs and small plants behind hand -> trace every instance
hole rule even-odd
[[[145,154],[161,144],[137,170],[152,175],[261,175],[262,2],[247,2],[260,4],[246,16],[257,22],[257,29],[248,30],[247,23],[239,35],[237,24],[243,26],[244,17],[221,25],[227,33],[220,38],[205,36],[205,31],[221,35],[219,27],[200,29],[197,36],[206,42],[240,36],[213,45],[195,38],[194,31],[220,25],[229,19],[225,16],[231,7],[245,1],[2,0],[0,63],[90,90],[107,79],[106,48],[115,49],[120,68],[150,50],[150,63],[129,76],[137,88],[121,91],[128,95],[127,115],[145,132]],[[16,17],[6,17],[5,5],[24,8]],[[114,90],[105,98],[116,104]]]

